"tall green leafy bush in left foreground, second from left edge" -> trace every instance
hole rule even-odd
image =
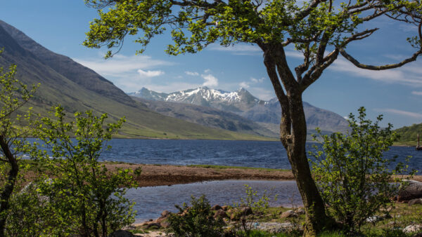
[[[97,117],[86,111],[75,113],[75,121],[68,123],[62,107],[56,107],[55,116],[37,123],[37,137],[51,149],[45,151],[51,158],[43,162],[54,177],[39,183],[39,189],[54,199],[51,205],[70,226],[68,234],[108,236],[132,223],[132,204],[123,196],[133,185],[132,170],[108,170],[98,161],[124,119],[105,126],[106,114]]]

